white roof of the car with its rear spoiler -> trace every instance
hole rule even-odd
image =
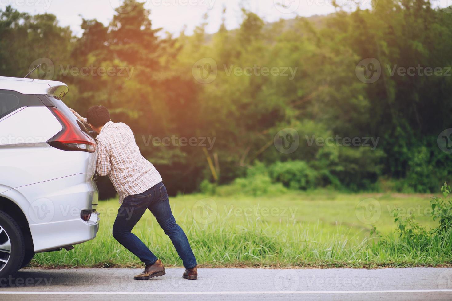
[[[12,90],[22,94],[47,94],[63,98],[69,88],[66,83],[45,79],[22,79],[0,76],[0,89]]]

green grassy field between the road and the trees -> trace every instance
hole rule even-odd
[[[192,214],[193,203],[202,197],[178,197],[172,201],[175,204],[173,212],[176,220],[187,233],[198,264],[202,267],[377,267],[452,263],[450,229],[407,241],[400,236],[400,232],[391,230],[393,227],[388,224],[393,217],[382,210],[379,223],[385,231],[370,235],[372,228],[369,225],[361,225],[352,220],[354,207],[360,199],[369,197],[367,194],[337,195],[334,200],[330,196],[321,199],[319,195],[315,195],[312,199],[311,195],[300,194],[282,195],[279,199],[217,199],[218,217],[208,224],[196,222]],[[417,196],[396,199],[387,195],[381,196],[380,202],[382,208],[385,208],[386,203],[405,206],[426,203]],[[301,211],[297,213],[297,219],[290,219],[237,217],[221,213],[220,210],[221,204],[245,206],[256,203],[299,206]],[[118,204],[111,200],[100,206],[112,208]],[[113,213],[101,215],[98,237],[93,241],[77,245],[71,251],[37,254],[31,265],[140,266],[139,259],[113,239]],[[133,232],[166,266],[182,266],[170,239],[150,213],[145,213]]]

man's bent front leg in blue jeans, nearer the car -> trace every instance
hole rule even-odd
[[[154,264],[157,257],[132,233],[132,229],[143,216],[150,200],[151,196],[140,198],[133,195],[127,196],[119,207],[118,216],[113,224],[113,237],[146,265]]]

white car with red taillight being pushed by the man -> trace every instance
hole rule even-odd
[[[99,230],[96,143],[66,84],[0,77],[0,278]]]

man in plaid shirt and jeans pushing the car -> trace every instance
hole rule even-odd
[[[149,209],[182,259],[185,267],[182,277],[196,280],[197,262],[187,236],[174,219],[160,173],[141,156],[132,130],[122,122],[111,121],[108,109],[103,106],[90,107],[86,118],[71,111],[85,126],[98,133],[96,172],[99,176],[108,175],[121,204],[113,224],[113,237],[146,266],[143,273],[134,279],[146,280],[165,275],[162,261],[132,233],[133,227]]]

